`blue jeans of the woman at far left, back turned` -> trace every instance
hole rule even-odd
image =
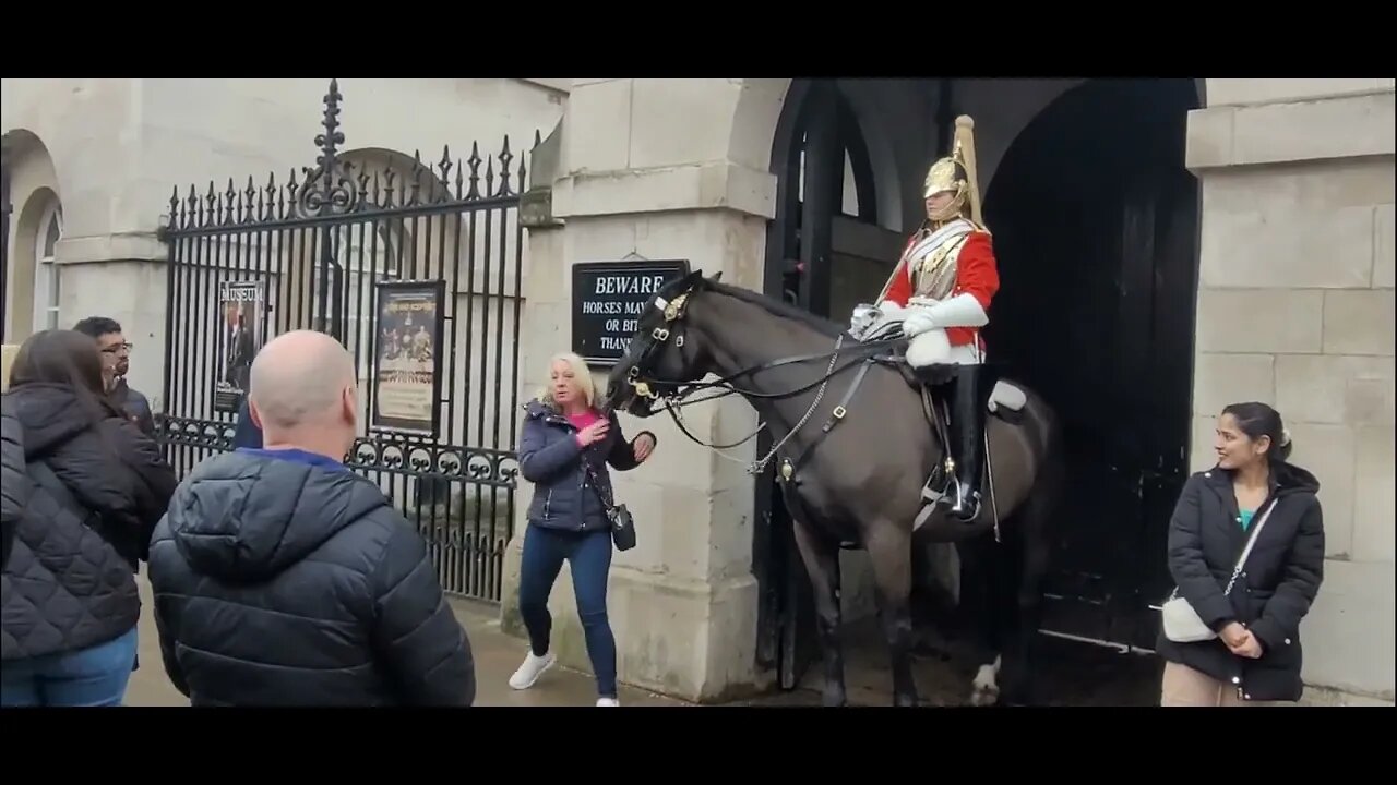
[[[136,663],[136,627],[78,651],[0,663],[0,705],[122,705]]]

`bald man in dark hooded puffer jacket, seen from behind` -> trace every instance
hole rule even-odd
[[[151,541],[170,680],[193,705],[471,705],[471,644],[426,545],[341,462],[349,352],[288,332],[250,387],[263,446],[200,464]]]

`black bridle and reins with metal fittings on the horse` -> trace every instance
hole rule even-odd
[[[795,426],[792,426],[791,430],[787,432],[787,434],[780,441],[777,441],[764,457],[761,457],[757,461],[753,461],[752,464],[747,465],[747,472],[753,474],[753,475],[759,475],[763,471],[766,471],[767,464],[771,462],[771,458],[775,457],[777,451],[782,446],[785,446],[785,443],[792,436],[795,436],[795,433],[798,430],[800,430],[800,427],[803,427],[806,422],[809,422],[810,416],[819,408],[820,401],[824,398],[824,390],[828,386],[830,380],[833,377],[838,376],[840,373],[842,373],[842,372],[854,367],[855,365],[861,365],[862,367],[861,367],[861,370],[858,373],[858,377],[854,380],[854,383],[849,386],[848,391],[845,392],[844,401],[841,401],[840,405],[834,408],[834,412],[833,412],[833,415],[830,418],[830,422],[827,422],[824,425],[820,436],[823,437],[823,434],[828,433],[834,427],[834,425],[837,425],[840,420],[842,420],[844,416],[848,413],[847,406],[848,406],[849,401],[852,399],[854,392],[858,390],[859,384],[863,381],[863,376],[865,376],[865,373],[868,373],[869,366],[873,365],[873,362],[875,362],[875,359],[872,358],[872,355],[876,351],[883,349],[888,344],[897,341],[894,338],[894,339],[887,339],[887,341],[862,342],[862,344],[858,345],[858,349],[855,352],[858,356],[855,356],[855,359],[849,360],[848,363],[845,363],[842,366],[838,366],[838,359],[840,359],[840,352],[844,348],[844,338],[845,338],[845,335],[840,335],[835,339],[834,351],[833,352],[817,352],[817,353],[810,353],[810,355],[796,355],[796,356],[789,356],[789,358],[780,358],[780,359],[775,359],[775,360],[767,360],[767,362],[757,363],[757,365],[750,366],[750,367],[740,369],[740,370],[738,370],[735,373],[731,373],[731,374],[728,374],[728,376],[725,376],[725,377],[722,377],[722,379],[719,379],[717,381],[659,380],[659,379],[654,379],[654,377],[645,374],[645,372],[643,370],[643,367],[647,366],[651,362],[651,359],[655,356],[657,352],[659,352],[661,349],[665,348],[666,342],[671,338],[673,338],[675,348],[678,348],[678,349],[683,348],[683,345],[685,345],[685,323],[683,323],[683,317],[685,317],[685,313],[686,313],[686,310],[689,307],[689,300],[693,296],[694,291],[696,291],[696,286],[690,286],[683,293],[675,296],[675,299],[672,299],[672,300],[666,300],[665,298],[655,298],[655,307],[664,314],[665,321],[664,321],[664,324],[659,324],[654,330],[650,331],[650,335],[647,337],[648,341],[640,349],[640,352],[636,356],[634,362],[631,363],[630,369],[627,369],[627,372],[626,372],[626,384],[630,386],[630,388],[634,391],[634,395],[638,397],[638,398],[647,398],[647,399],[655,401],[655,402],[664,401],[665,402],[665,411],[669,413],[671,419],[675,420],[675,425],[679,427],[679,430],[686,437],[689,437],[689,440],[693,441],[694,444],[698,444],[700,447],[707,447],[707,448],[714,450],[714,451],[729,450],[732,447],[739,447],[739,446],[750,441],[753,437],[756,437],[759,433],[761,433],[761,429],[766,427],[766,423],[764,422],[757,423],[757,429],[754,432],[752,432],[752,434],[749,434],[747,437],[742,439],[740,441],[735,441],[732,444],[705,444],[703,440],[700,440],[693,433],[690,433],[687,427],[685,427],[683,420],[678,415],[678,411],[680,408],[683,408],[686,405],[692,405],[692,404],[701,404],[704,401],[712,401],[712,399],[717,399],[717,398],[732,395],[735,392],[739,394],[739,395],[743,395],[743,397],[750,397],[750,398],[784,399],[784,398],[792,398],[795,395],[799,395],[800,392],[805,392],[807,390],[819,387],[820,390],[816,392],[814,401],[810,404],[810,408],[806,411],[805,416],[802,416],[800,420]],[[788,366],[788,365],[796,365],[796,363],[803,363],[803,362],[821,360],[821,359],[826,359],[826,358],[828,358],[830,365],[828,365],[828,367],[826,367],[824,374],[820,379],[816,379],[814,381],[812,381],[810,384],[806,384],[803,387],[798,387],[795,390],[788,390],[788,391],[784,391],[784,392],[759,392],[756,390],[740,390],[740,388],[738,388],[738,387],[735,387],[732,384],[732,380],[735,380],[735,379],[740,379],[743,376],[750,376],[750,374],[754,374],[754,373],[759,373],[759,372],[763,372],[763,370],[770,370],[770,369],[774,369],[774,367],[781,367],[781,366]],[[719,395],[710,395],[710,397],[700,398],[700,399],[696,399],[696,401],[685,401],[685,398],[687,398],[693,392],[697,392],[698,390],[704,390],[704,388],[721,388],[721,390],[724,390],[724,392],[719,394]],[[658,392],[657,392],[657,390],[658,390]],[[654,404],[651,404],[651,406],[654,406]],[[782,472],[781,472],[784,479],[787,479],[787,480],[791,479],[791,476],[792,476],[792,474],[795,471],[795,467],[799,465],[799,462],[803,462],[803,458],[814,448],[814,444],[817,444],[817,443],[819,443],[819,440],[816,443],[810,444],[806,448],[806,453],[802,454],[800,458],[796,461],[796,464],[792,464],[789,460],[784,461]],[[729,461],[742,462],[742,461],[738,461],[736,458],[731,458],[728,455],[724,455],[722,453],[717,453],[717,454],[721,458],[726,458]]]

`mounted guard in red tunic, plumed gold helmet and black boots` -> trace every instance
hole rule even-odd
[[[971,521],[979,514],[985,416],[993,390],[981,330],[989,324],[999,271],[981,217],[970,117],[956,119],[951,152],[926,173],[922,197],[926,221],[883,285],[880,305],[855,309],[852,334],[869,338],[900,323],[902,335],[911,338],[907,363],[916,379],[930,388],[950,387],[951,450],[937,503]]]

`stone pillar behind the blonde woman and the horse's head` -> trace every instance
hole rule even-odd
[[[529,232],[529,282],[539,288],[525,295],[527,383],[541,380],[548,353],[571,345],[569,268],[576,261],[687,258],[708,275],[721,271],[726,282],[761,288],[775,177],[766,170],[763,144],[735,142],[733,117],[740,103],[764,102],[774,126],[784,94],[784,85],[742,80],[574,82],[552,190],[552,215],[566,229]],[[767,151],[770,144],[768,134]],[[615,555],[609,585],[620,680],[694,701],[764,687],[767,676],[756,665],[752,478],[685,439],[668,418],[622,415],[620,422],[627,439],[641,429],[658,434],[645,465],[613,474],[638,534],[636,549]],[[736,398],[686,408],[685,422],[710,443],[756,429],[754,412]],[[750,461],[752,444],[728,454]],[[511,605],[527,492],[517,496],[502,622],[521,633]],[[590,672],[566,567],[550,608],[562,662]]]

